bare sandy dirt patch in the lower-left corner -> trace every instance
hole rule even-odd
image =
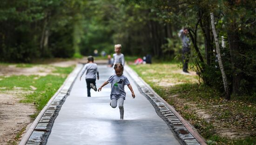
[[[36,112],[33,104],[19,103],[21,96],[32,93],[16,88],[0,91],[0,145],[15,140],[16,134],[31,123],[30,115]]]

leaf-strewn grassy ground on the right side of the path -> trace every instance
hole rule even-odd
[[[222,93],[216,89],[198,83],[193,75],[184,75],[179,62],[155,63],[152,65],[131,65],[163,99],[195,126],[207,139],[209,145],[254,145],[256,139],[256,104],[253,101],[241,101],[233,98],[225,101]],[[161,85],[162,82],[173,85]],[[177,97],[172,97],[172,96]],[[247,99],[249,97],[243,98]],[[250,97],[251,98],[251,97]],[[182,100],[180,102],[179,100]],[[189,103],[191,105],[184,105]],[[207,111],[212,117],[202,119],[195,113],[193,106]],[[251,133],[250,137],[229,139],[216,133],[216,124],[222,128],[236,128]]]

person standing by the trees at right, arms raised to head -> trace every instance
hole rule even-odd
[[[179,37],[182,39],[182,65],[183,65],[183,72],[188,72],[188,63],[189,63],[189,56],[190,56],[190,47],[189,47],[189,37],[188,37],[189,30],[187,28],[183,28],[178,33]]]

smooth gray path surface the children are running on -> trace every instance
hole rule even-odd
[[[111,76],[112,68],[98,66],[97,88]],[[79,77],[54,121],[47,145],[180,145],[168,125],[156,114],[155,108],[139,91],[130,76],[135,99],[125,86],[124,120],[118,106],[110,103],[110,84],[101,92],[91,89],[87,97],[85,76]]]

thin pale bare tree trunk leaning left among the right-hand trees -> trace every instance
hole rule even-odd
[[[226,77],[226,74],[225,74],[225,71],[224,71],[224,67],[223,67],[223,64],[222,64],[220,45],[219,45],[216,30],[215,30],[213,13],[210,13],[210,16],[211,16],[212,33],[214,35],[215,45],[216,45],[216,52],[217,52],[217,56],[218,56],[218,62],[219,62],[220,70],[222,72],[222,80],[223,80],[223,85],[224,85],[224,90],[225,90],[225,99],[230,100],[229,84],[228,84],[228,80],[227,80],[227,77]]]

